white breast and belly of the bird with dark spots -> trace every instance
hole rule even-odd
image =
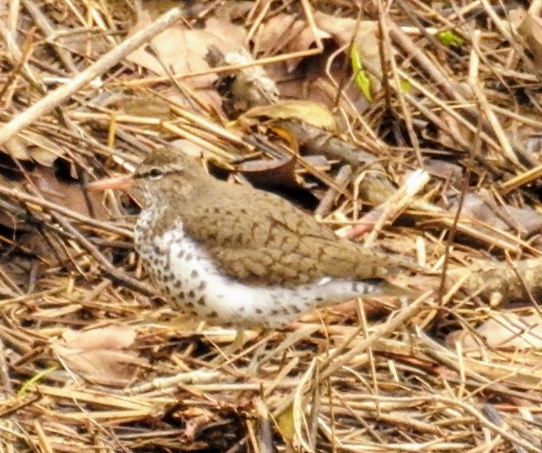
[[[148,241],[150,238],[143,238],[141,227],[149,219],[144,212],[141,217],[136,228],[136,245],[153,282],[181,311],[209,323],[280,327],[311,309],[378,290],[371,281],[329,278],[294,288],[247,284],[219,271],[198,242],[184,234],[182,223]]]

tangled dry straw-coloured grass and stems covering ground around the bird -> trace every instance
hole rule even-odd
[[[195,3],[183,15],[194,26],[247,2]],[[281,12],[313,31],[317,10],[357,17],[349,1],[263,3],[236,16],[251,35]],[[358,223],[342,234],[435,271],[404,277],[428,292],[408,305],[344,305],[283,332],[249,332],[243,350],[223,356],[234,331],[178,320],[152,291],[132,249],[133,203],[108,194],[102,204],[83,196],[84,183],[175,139],[227,160],[263,146],[272,154],[279,137],[228,124],[191,76],[155,76],[125,59],[179,11],[126,37],[130,1],[10,2],[0,17],[0,452],[541,452],[538,230],[526,231],[516,211],[501,212],[512,224],[503,228],[456,216],[448,203],[468,205],[468,189],[495,209],[540,210],[536,42],[512,30],[502,5],[465,3],[365,6],[385,32],[378,51],[387,65],[385,76],[369,67],[383,88],[362,114],[348,96],[335,99],[342,87],[352,92],[349,65],[311,60],[306,74],[321,72],[329,105],[338,101],[342,134],[317,130],[317,151],[356,163],[362,149],[382,164],[334,179],[326,164],[304,161],[301,173],[329,187],[319,215],[339,228],[360,219],[361,199],[380,205],[362,217],[372,232]],[[435,31],[446,30],[464,42],[444,46]],[[270,52],[262,67],[328,58],[326,45]],[[294,125],[281,127],[315,147]],[[69,164],[54,173],[58,155]],[[403,184],[430,158],[455,166]],[[514,318],[527,314],[527,327]],[[502,330],[482,336],[489,319]],[[103,342],[63,340],[67,329]],[[475,347],[453,331],[471,332]],[[511,331],[529,344],[494,338]]]

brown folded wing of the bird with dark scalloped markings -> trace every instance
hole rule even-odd
[[[393,260],[339,239],[286,200],[254,189],[250,203],[217,193],[207,205],[187,203],[182,221],[231,277],[247,282],[295,286],[324,277],[365,280],[383,277]]]

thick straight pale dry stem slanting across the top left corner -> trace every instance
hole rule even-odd
[[[143,28],[143,30],[128,37],[109,53],[106,53],[100,60],[94,62],[85,69],[85,71],[82,71],[71,79],[69,83],[62,87],[58,87],[53,92],[47,94],[43,99],[31,105],[24,112],[18,114],[17,117],[0,128],[0,144],[3,144],[7,139],[13,137],[19,130],[30,126],[33,121],[40,118],[43,114],[53,110],[53,108],[68,99],[71,94],[87,85],[87,83],[94,80],[94,78],[104,74],[105,71],[111,69],[119,61],[132,53],[132,51],[137,49],[143,43],[148,42],[148,40],[161,31],[166,30],[168,26],[171,26],[171,24],[175,23],[181,17],[182,11],[180,8],[174,8],[173,10],[166,12],[166,14],[159,17],[155,22],[152,22],[149,26]]]

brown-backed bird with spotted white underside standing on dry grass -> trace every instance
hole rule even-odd
[[[142,206],[135,248],[159,292],[195,320],[268,330],[354,298],[410,294],[387,281],[398,257],[341,239],[276,194],[214,178],[179,148],[152,151],[130,180]]]

